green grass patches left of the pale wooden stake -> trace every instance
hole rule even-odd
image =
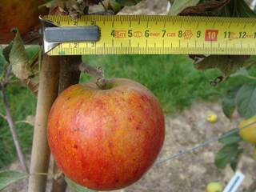
[[[30,94],[26,87],[10,86],[7,90],[7,95],[15,122],[25,120],[27,115],[35,113],[36,98]],[[2,112],[2,105],[0,105],[0,109]],[[2,112],[2,114],[4,113]],[[22,151],[29,154],[33,127],[25,123],[18,123],[16,130],[21,142]],[[13,161],[14,158],[16,158],[16,154],[9,127],[5,120],[0,118],[0,168]]]

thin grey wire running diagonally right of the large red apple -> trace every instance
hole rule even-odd
[[[190,148],[188,150],[180,150],[178,152],[178,154],[173,154],[173,155],[167,156],[166,158],[160,158],[157,162],[154,163],[154,166],[159,166],[159,165],[161,165],[164,162],[169,162],[171,160],[174,160],[176,158],[181,157],[184,154],[191,154],[195,150],[198,150],[200,148],[208,146],[208,145],[210,145],[213,142],[218,142],[222,138],[227,138],[230,135],[238,133],[240,130],[244,130],[244,129],[246,129],[246,128],[250,127],[250,126],[253,126],[253,125],[256,125],[256,122],[252,122],[252,123],[250,123],[250,124],[248,124],[246,126],[243,126],[242,128],[236,128],[234,130],[231,130],[231,131],[227,132],[226,134],[222,134],[221,136],[210,138],[210,139],[206,140],[205,142],[201,142],[201,143],[193,146],[192,148]]]

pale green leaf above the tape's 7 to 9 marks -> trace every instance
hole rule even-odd
[[[175,0],[174,4],[170,7],[170,15],[177,15],[189,6],[195,6],[200,0]]]

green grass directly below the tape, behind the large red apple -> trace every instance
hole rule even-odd
[[[191,106],[195,100],[214,101],[222,96],[224,82],[217,87],[210,81],[218,77],[218,70],[206,72],[194,69],[190,58],[177,55],[108,55],[86,56],[91,66],[102,66],[106,78],[130,78],[147,86],[158,97],[166,113],[174,113]],[[240,79],[243,81],[243,79]],[[82,75],[82,82],[88,81]],[[239,81],[236,79],[235,83]]]

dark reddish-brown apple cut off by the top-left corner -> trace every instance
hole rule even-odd
[[[24,35],[39,25],[38,6],[43,0],[1,0],[0,3],[0,44],[9,43],[14,38],[11,30],[17,27]],[[46,13],[46,10],[43,10]],[[41,13],[42,14],[42,13]]]

